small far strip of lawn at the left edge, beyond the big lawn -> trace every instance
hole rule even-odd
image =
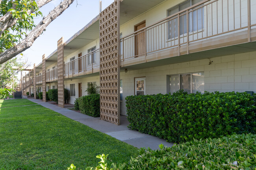
[[[36,104],[28,99],[0,100],[0,108]]]

